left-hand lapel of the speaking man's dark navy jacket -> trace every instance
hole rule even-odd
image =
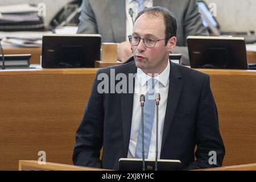
[[[127,71],[126,76],[129,78],[129,73],[137,73],[137,67],[134,65]],[[134,93],[135,78],[133,78],[133,93]],[[129,90],[129,82],[127,80],[127,90]],[[127,91],[126,94],[121,95],[121,110],[122,110],[122,124],[123,124],[123,148],[125,157],[128,153],[130,134],[131,134],[131,119],[133,116],[133,93]]]

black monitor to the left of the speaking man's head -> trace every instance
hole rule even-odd
[[[99,34],[44,35],[42,68],[94,68],[100,50]]]

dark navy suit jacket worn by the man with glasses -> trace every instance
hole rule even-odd
[[[84,118],[76,134],[73,153],[75,165],[117,169],[118,159],[127,157],[133,94],[97,92],[97,85],[101,82],[97,76],[100,73],[110,76],[111,68],[115,74],[137,72],[134,61],[97,72]],[[208,75],[171,62],[162,138],[160,159],[179,159],[183,169],[222,165],[225,148],[218,129],[217,109]],[[196,145],[197,151],[194,153]],[[210,151],[217,153],[216,165],[208,163]]]

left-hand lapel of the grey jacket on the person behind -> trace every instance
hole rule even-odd
[[[126,11],[125,1],[109,0],[110,15],[115,42],[126,40]],[[119,40],[119,41],[118,41]]]

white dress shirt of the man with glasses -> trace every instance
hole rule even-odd
[[[159,126],[158,126],[158,159],[160,159],[160,151],[162,146],[162,135],[164,126],[164,117],[166,115],[166,105],[169,90],[169,76],[170,76],[170,62],[166,69],[160,75],[154,77],[155,92],[160,93],[160,104],[159,104]],[[135,150],[137,146],[139,125],[141,123],[141,104],[139,102],[139,97],[141,94],[146,95],[147,93],[147,81],[152,78],[144,73],[141,69],[137,68],[137,76],[135,77],[135,88],[133,97],[133,117],[131,119],[131,135],[129,143],[129,151],[127,158],[134,158]],[[155,159],[155,141],[156,141],[156,111],[154,115],[154,121],[151,131],[150,147],[148,150],[148,159]]]

